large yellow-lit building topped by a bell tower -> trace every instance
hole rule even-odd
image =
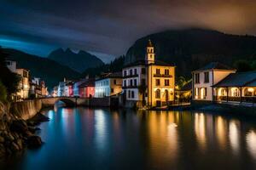
[[[170,105],[174,101],[175,66],[155,60],[154,46],[148,41],[144,60],[125,65],[124,103],[128,107]]]

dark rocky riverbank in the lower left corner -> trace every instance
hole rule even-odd
[[[37,125],[49,118],[38,113],[30,120],[23,120],[9,112],[8,106],[0,105],[0,159],[13,156],[28,149],[40,147],[42,139],[36,135]]]

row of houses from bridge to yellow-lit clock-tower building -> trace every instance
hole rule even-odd
[[[175,66],[155,61],[149,40],[145,59],[125,65],[121,72],[105,73],[100,78],[65,80],[55,87],[55,96],[121,97],[123,105],[162,106],[174,101]]]

